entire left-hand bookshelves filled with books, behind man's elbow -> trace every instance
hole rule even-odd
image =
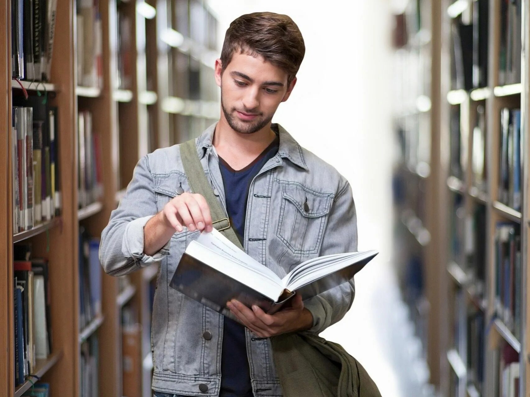
[[[195,0],[9,0],[0,14],[0,395],[151,396],[158,267],[104,274],[99,237],[139,158],[215,117],[163,106],[218,103],[215,17]]]

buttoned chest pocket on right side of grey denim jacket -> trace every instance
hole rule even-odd
[[[316,192],[295,182],[280,182],[280,190],[277,237],[294,254],[317,254],[333,194]]]

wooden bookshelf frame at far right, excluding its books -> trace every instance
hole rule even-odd
[[[443,263],[449,264],[447,266],[447,272],[445,272],[444,278],[441,280],[443,284],[443,301],[451,302],[457,293],[464,294],[463,304],[455,303],[456,309],[451,308],[449,304],[441,304],[435,310],[441,316],[441,323],[445,324],[441,328],[441,348],[449,353],[444,356],[440,356],[442,362],[440,363],[440,383],[439,390],[441,395],[450,395],[455,397],[464,396],[476,396],[481,395],[483,397],[494,397],[497,395],[495,390],[496,383],[494,378],[498,376],[496,371],[496,356],[495,351],[504,345],[509,345],[519,353],[519,364],[520,364],[520,381],[519,381],[519,395],[528,395],[528,382],[530,381],[530,374],[528,372],[527,357],[528,357],[528,319],[527,319],[527,307],[526,296],[528,295],[527,285],[527,258],[528,258],[528,172],[530,167],[528,166],[528,145],[524,146],[522,154],[523,169],[522,173],[522,188],[523,192],[523,204],[520,211],[514,210],[512,207],[503,203],[501,200],[501,192],[499,190],[499,162],[500,150],[501,150],[501,117],[500,112],[504,107],[509,109],[521,110],[521,136],[522,139],[527,142],[528,139],[528,73],[530,68],[528,67],[528,35],[530,30],[530,13],[528,12],[529,2],[522,0],[522,9],[524,15],[522,17],[522,31],[520,34],[523,37],[523,42],[526,43],[526,47],[523,48],[522,55],[524,62],[522,62],[522,78],[520,83],[514,84],[499,84],[501,81],[499,78],[500,74],[500,40],[501,40],[501,21],[500,21],[500,2],[494,0],[485,0],[488,2],[488,79],[487,85],[483,87],[474,87],[473,89],[456,89],[454,86],[454,80],[452,81],[452,67],[451,58],[453,51],[453,37],[452,32],[458,31],[461,34],[460,29],[462,25],[468,25],[473,22],[473,12],[476,12],[478,8],[478,1],[451,1],[444,0],[441,2],[443,8],[441,12],[441,81],[440,89],[442,97],[446,98],[446,101],[440,103],[441,113],[441,134],[439,139],[441,141],[441,147],[443,148],[446,156],[441,158],[440,167],[443,169],[441,177],[443,181],[447,181],[445,192],[440,194],[439,201],[442,206],[445,207],[443,213],[447,219],[445,222],[441,222],[438,230],[440,231],[440,239],[436,240],[436,244],[442,247],[449,247],[448,250],[441,255],[439,260],[433,263],[433,266],[439,266]],[[466,4],[464,4],[466,3]],[[432,84],[435,84],[434,80]],[[485,118],[485,186],[482,188],[477,187],[474,184],[475,174],[474,168],[474,154],[477,149],[476,145],[479,143],[474,142],[475,139],[480,139],[479,136],[474,136],[474,129],[479,122],[479,107],[484,112]],[[452,142],[453,130],[456,128],[455,123],[452,123],[452,115],[455,110],[458,110],[458,131],[460,133],[460,143],[457,146],[460,149],[460,161],[462,166],[462,175],[454,175],[454,168],[452,167],[451,154],[454,148],[454,140]],[[431,132],[432,139],[437,139],[436,133]],[[474,144],[475,148],[474,148]],[[480,149],[479,149],[480,150]],[[460,197],[460,198],[458,198]],[[454,203],[459,202],[458,206]],[[479,232],[475,229],[472,232],[474,238],[470,240],[470,228],[476,228],[472,225],[472,220],[476,214],[476,211],[484,211],[485,214],[485,227],[484,236],[485,241],[481,247],[480,255],[476,252],[477,247],[469,246],[469,241],[475,241],[480,236]],[[456,228],[452,225],[452,222],[458,222],[462,226]],[[455,221],[456,220],[456,221]],[[470,223],[471,222],[471,223]],[[504,320],[498,317],[496,306],[496,225],[498,222],[509,222],[510,224],[520,225],[521,235],[521,269],[522,275],[520,280],[516,282],[520,283],[522,290],[522,301],[521,304],[521,329],[520,335],[523,335],[522,340],[517,340],[514,336],[514,332],[506,326]],[[465,226],[464,226],[465,225]],[[454,234],[454,230],[458,231],[458,228],[462,228],[462,233]],[[456,244],[456,241],[460,241],[460,248]],[[476,242],[476,241],[475,241]],[[455,245],[456,244],[456,245]],[[462,248],[463,247],[463,248]],[[472,248],[471,251],[469,251]],[[456,249],[457,254],[454,250]],[[458,253],[460,252],[460,253]],[[452,260],[452,255],[460,255],[462,257],[462,263],[458,261],[458,265]],[[473,260],[480,256],[484,258],[484,282],[479,282],[474,276],[476,269]],[[469,262],[469,263],[467,263]],[[460,301],[459,301],[460,302]],[[479,385],[476,379],[470,377],[469,374],[472,372],[468,367],[470,358],[464,356],[467,355],[467,350],[455,346],[455,335],[454,335],[454,317],[455,310],[463,310],[466,315],[474,316],[474,313],[483,313],[483,335],[487,336],[484,338],[484,360],[483,367],[483,384]],[[468,320],[469,321],[469,320]],[[469,323],[464,324],[464,333],[460,335],[460,338],[465,339],[465,347],[469,347],[472,343],[469,340],[471,335]],[[479,330],[480,331],[480,330]],[[476,339],[476,338],[475,338]],[[465,353],[464,353],[465,352]],[[498,371],[498,369],[497,369]],[[457,387],[454,384],[454,376],[452,373],[460,373],[458,376],[460,382]]]

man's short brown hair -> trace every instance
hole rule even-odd
[[[254,12],[241,15],[226,30],[221,51],[223,71],[237,50],[252,56],[261,55],[285,70],[290,84],[304,59],[305,45],[302,33],[289,16]]]

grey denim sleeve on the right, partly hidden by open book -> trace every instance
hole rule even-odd
[[[335,196],[328,216],[320,256],[357,251],[357,215],[348,182]],[[350,309],[354,296],[355,282],[352,278],[305,301],[305,308],[313,315],[313,327],[308,332],[318,334],[342,319]]]

